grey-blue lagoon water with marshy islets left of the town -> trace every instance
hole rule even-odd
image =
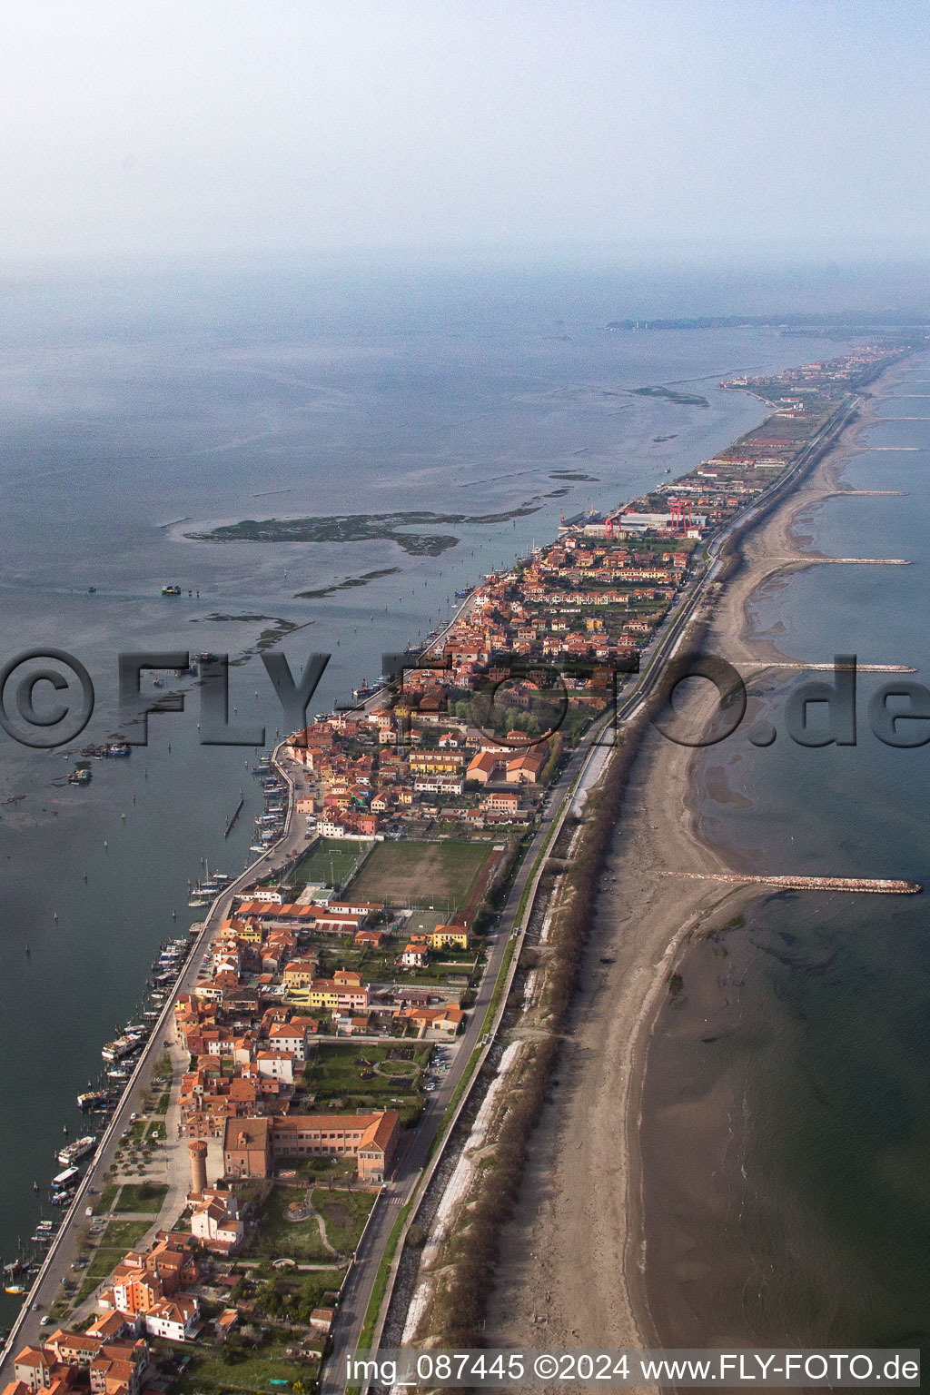
[[[333,656],[311,710],[328,707],[445,617],[456,587],[551,537],[562,509],[632,497],[761,420],[759,403],[717,391],[724,374],[838,347],[753,329],[612,335],[608,319],[791,310],[811,294],[863,304],[863,285],[399,261],[10,278],[0,653],[50,643],[79,657],[98,689],[81,739],[100,741],[117,730],[120,650],[244,654],[284,619],[304,626],[282,646],[293,667]],[[668,382],[708,406],[625,391]],[[590,478],[552,477],[566,469]],[[241,518],[526,502],[538,512],[442,525],[459,544],[438,558],[390,541],[183,536]],[[365,589],[296,598],[386,568]],[[163,600],[163,582],[184,594]],[[233,670],[231,700],[275,735],[255,657]],[[134,1014],[159,942],[192,919],[187,880],[202,858],[229,872],[247,861],[252,753],[201,748],[195,723],[195,710],[152,720],[149,746],[95,762],[88,790],[64,783],[60,755],[0,737],[0,798],[25,797],[0,805],[0,1256],[31,1235],[32,1182],[45,1196],[63,1126],[79,1124],[75,1094]],[[247,808],[224,841],[240,785]],[[13,1311],[0,1295],[0,1322]]]

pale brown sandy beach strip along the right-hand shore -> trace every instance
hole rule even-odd
[[[842,470],[899,371],[873,385],[873,399],[834,449],[743,538],[742,565],[707,603],[706,651],[743,672],[792,657],[775,647],[777,635],[753,633],[753,594],[760,585],[781,586],[785,568],[817,555],[806,551],[803,523],[798,527],[796,520],[842,490]],[[644,732],[586,947],[573,1028],[533,1140],[520,1205],[502,1236],[488,1303],[491,1345],[686,1345],[678,1338],[689,1331],[693,1345],[712,1345],[725,1336],[701,1327],[706,1313],[694,1311],[692,1320],[685,1313],[682,1320],[682,1283],[701,1278],[701,1267],[689,1257],[693,1235],[672,1225],[657,1239],[644,1236],[643,1228],[643,1165],[658,1169],[664,1184],[673,1180],[669,1215],[689,1207],[687,1158],[643,1158],[640,1149],[647,1048],[669,999],[671,974],[694,936],[724,925],[759,896],[757,889],[675,876],[729,870],[697,836],[692,791],[699,757],[700,752],[676,746],[653,728]],[[712,1018],[717,985],[694,985],[694,992],[706,995],[701,1011]],[[739,1102],[725,1088],[686,1102],[679,1091],[666,1108],[675,1112],[669,1138],[680,1138],[686,1123],[689,1140],[700,1148],[717,1147]],[[724,1165],[728,1159],[721,1158]],[[700,1223],[712,1219],[704,1207]]]

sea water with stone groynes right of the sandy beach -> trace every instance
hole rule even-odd
[[[867,449],[845,474],[853,487],[906,497],[831,498],[798,523],[828,555],[912,565],[814,566],[764,587],[754,624],[784,653],[910,664],[927,684],[930,421],[894,420],[930,417],[930,398],[919,400],[930,393],[926,379],[930,359],[912,360],[897,398],[881,407],[883,423],[864,438],[920,452]],[[857,745],[821,749],[785,738],[793,682],[764,684],[764,714],[779,730],[772,746],[756,749],[736,734],[703,757],[704,834],[753,870],[908,877],[930,887],[930,748],[894,751],[869,728],[869,698],[888,678],[859,679]],[[926,1345],[927,893],[760,900],[743,928],[689,953],[683,978],[693,997],[664,1013],[651,1098],[731,1105],[715,1144],[690,1161],[697,1268],[678,1289],[680,1320],[704,1313],[712,1295],[731,1339]],[[669,1197],[655,1189],[650,1201],[647,1190],[653,1223],[664,1223],[657,1208],[668,1219],[679,1205]],[[704,1296],[693,1281],[699,1271]]]

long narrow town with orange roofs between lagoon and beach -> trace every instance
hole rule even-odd
[[[475,1078],[512,985],[502,908],[559,778],[707,571],[708,540],[894,353],[725,384],[772,414],[632,504],[563,518],[376,689],[258,766],[254,875],[194,903],[211,910],[190,956],[162,956],[158,1030],[121,1038],[144,1052],[144,1094],[96,1170],[59,1189],[74,1258],[3,1395],[314,1387],[360,1265],[383,1264]],[[106,1120],[113,1094],[81,1099]]]

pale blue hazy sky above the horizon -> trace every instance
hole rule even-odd
[[[3,0],[0,255],[923,250],[926,0]]]

